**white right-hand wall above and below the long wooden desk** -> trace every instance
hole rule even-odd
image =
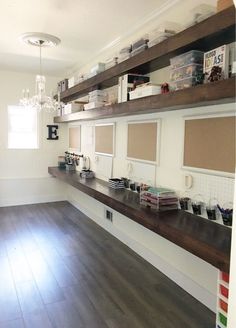
[[[81,124],[81,152],[91,159],[91,168],[99,178],[127,176],[127,164],[132,163],[133,173],[130,178],[152,185],[163,185],[179,193],[185,191],[183,177],[186,173],[193,176],[193,188],[188,191],[190,197],[201,193],[204,201],[216,197],[220,204],[233,201],[234,179],[200,172],[185,171],[182,166],[184,117],[195,115],[220,115],[233,113],[234,105],[218,105],[179,111],[106,119]],[[153,120],[161,122],[161,147],[158,165],[150,165],[126,159],[127,122],[134,120]],[[115,155],[114,158],[97,156],[94,153],[94,125],[97,123],[115,122]],[[78,123],[71,123],[69,126]],[[95,159],[98,158],[98,161]],[[99,164],[100,163],[100,164]],[[68,188],[69,201],[102,225],[117,238],[125,242],[138,254],[146,258],[159,270],[173,279],[181,287],[203,302],[212,310],[216,308],[217,272],[206,262],[191,255],[180,247],[150,232],[135,222],[115,213],[113,225],[104,222],[104,205]],[[91,206],[91,202],[93,206]],[[206,217],[206,213],[203,214]],[[221,218],[217,220],[222,224]],[[217,224],[217,223],[216,223]],[[230,229],[230,228],[229,228]]]

